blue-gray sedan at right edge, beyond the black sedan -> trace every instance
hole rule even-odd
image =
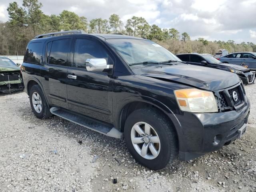
[[[247,65],[249,69],[256,70],[255,52],[236,52],[222,56],[219,60],[223,63],[232,63],[236,65]]]

